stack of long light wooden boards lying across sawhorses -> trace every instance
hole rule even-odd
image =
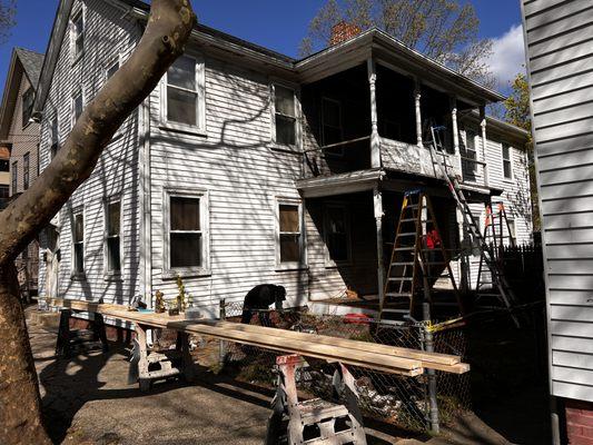
[[[453,374],[470,370],[458,356],[426,353],[417,349],[357,342],[317,334],[275,329],[264,326],[241,325],[218,320],[186,320],[182,316],[128,310],[126,306],[90,303],[72,299],[48,299],[55,307],[99,313],[145,327],[172,329],[187,334],[205,335],[266,349],[299,354],[328,362],[359,366],[378,372],[417,376],[424,369],[436,369]]]

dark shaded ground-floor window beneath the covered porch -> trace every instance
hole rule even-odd
[[[333,263],[350,260],[349,215],[344,206],[328,206],[325,211],[325,243]]]

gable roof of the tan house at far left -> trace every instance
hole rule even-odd
[[[0,140],[8,139],[19,89],[24,75],[33,91],[37,90],[43,55],[24,48],[14,48],[10,58],[9,71],[4,83],[2,105],[0,108]]]

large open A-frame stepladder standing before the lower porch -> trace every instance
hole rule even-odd
[[[453,305],[464,314],[431,198],[422,189],[406,191],[379,301],[379,318],[399,316],[406,319],[414,315],[414,309],[422,301],[433,307],[451,306],[451,303],[433,298],[434,285],[443,278],[451,280],[456,299]]]

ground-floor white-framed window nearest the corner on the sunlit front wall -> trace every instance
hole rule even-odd
[[[169,277],[205,274],[208,270],[208,198],[204,191],[168,191],[168,248],[166,265]]]

